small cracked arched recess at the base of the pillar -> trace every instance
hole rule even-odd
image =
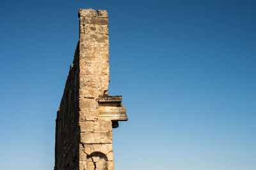
[[[93,152],[88,155],[94,164],[94,170],[108,170],[108,158],[102,152]]]

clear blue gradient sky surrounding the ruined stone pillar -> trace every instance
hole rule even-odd
[[[79,8],[109,11],[117,170],[256,169],[256,1],[0,1],[0,169],[54,167]]]

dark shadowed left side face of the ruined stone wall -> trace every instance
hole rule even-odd
[[[79,166],[79,46],[77,45],[56,118],[55,169]]]

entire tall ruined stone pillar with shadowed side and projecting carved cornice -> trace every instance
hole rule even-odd
[[[78,16],[79,42],[56,118],[54,169],[112,170],[112,128],[128,118],[122,96],[108,96],[108,11]]]

